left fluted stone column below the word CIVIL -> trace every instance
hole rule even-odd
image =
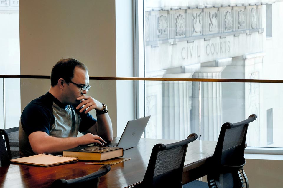
[[[167,69],[166,78],[192,78],[200,64]],[[192,82],[164,81],[162,85],[163,138],[185,139],[190,130]]]

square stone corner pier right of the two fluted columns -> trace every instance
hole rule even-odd
[[[261,79],[262,61],[265,53],[251,53],[232,58],[232,64],[223,71],[227,79]],[[232,123],[245,120],[251,114],[257,119],[249,126],[246,141],[249,146],[266,144],[266,126],[260,125],[262,105],[262,88],[260,83],[223,83],[223,121]],[[251,136],[250,136],[251,135]]]

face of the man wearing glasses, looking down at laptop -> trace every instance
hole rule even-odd
[[[82,68],[75,67],[74,77],[71,79],[71,81],[78,85],[85,86],[89,83],[88,78],[88,72],[86,72]],[[77,98],[86,94],[87,91],[85,90],[83,93],[81,93],[81,88],[78,85],[75,85],[73,83],[67,83],[67,88],[64,91],[65,104],[71,104],[75,107],[80,104],[80,101],[78,101]]]

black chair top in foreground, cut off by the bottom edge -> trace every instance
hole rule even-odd
[[[99,180],[100,177],[107,174],[107,172],[109,172],[111,169],[110,165],[103,165],[101,166],[98,171],[93,172],[91,174],[88,174],[86,176],[83,177],[78,177],[75,179],[56,179],[51,187],[60,187],[60,188],[67,188],[67,187],[81,187],[81,186],[86,186],[89,187],[89,185],[91,185],[91,187],[98,187],[99,184]]]

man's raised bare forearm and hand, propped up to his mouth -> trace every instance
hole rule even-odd
[[[85,110],[85,113],[88,113],[91,110],[101,111],[104,109],[102,103],[94,98],[84,95],[78,97],[77,100],[81,100],[81,103],[76,107],[76,109],[80,109],[80,112]],[[112,131],[112,123],[108,113],[105,114],[97,114],[97,122],[90,127],[87,132],[90,132],[94,135],[99,135],[102,137],[106,142],[112,142],[113,139],[113,131]]]

